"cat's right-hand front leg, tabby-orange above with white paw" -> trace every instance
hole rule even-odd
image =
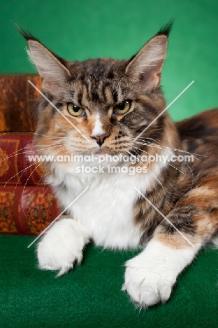
[[[177,275],[217,232],[216,177],[191,189],[154,231],[145,250],[126,262],[124,289],[142,307],[170,297]]]

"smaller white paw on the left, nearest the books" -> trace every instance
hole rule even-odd
[[[63,275],[82,261],[82,250],[89,241],[87,229],[74,219],[61,219],[45,233],[37,246],[38,266],[58,270]]]

